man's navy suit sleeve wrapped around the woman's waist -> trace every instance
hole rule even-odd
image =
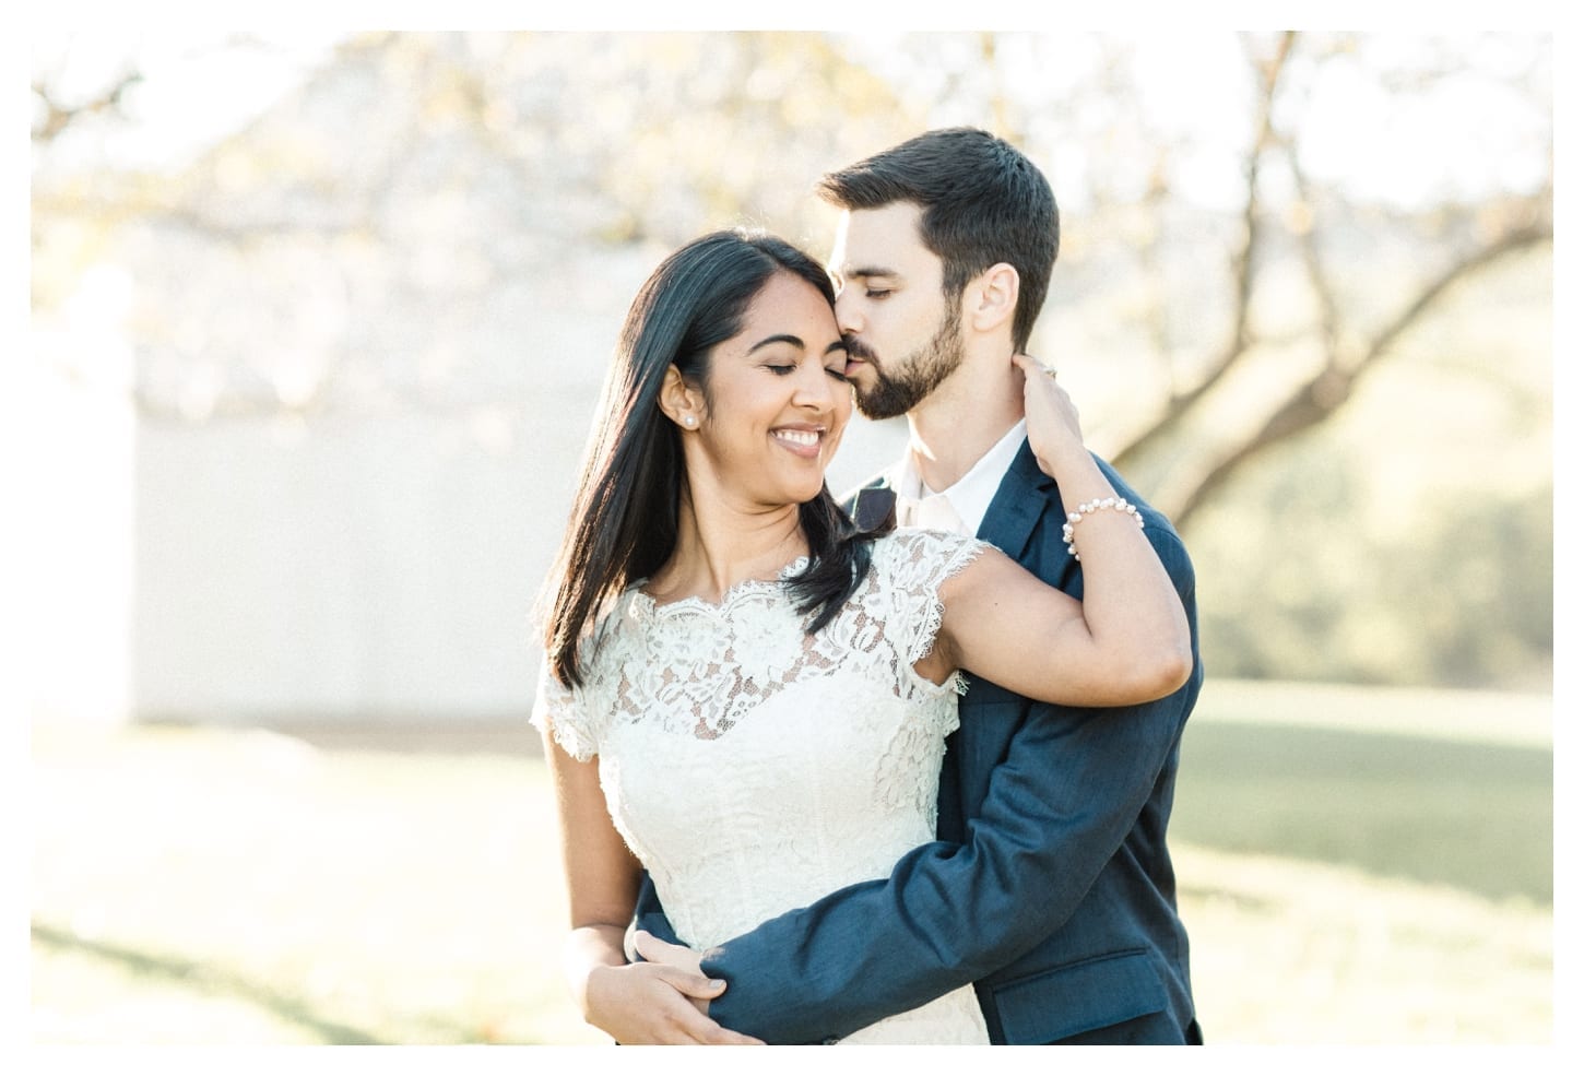
[[[1191,610],[1182,542],[1148,534]],[[1050,937],[1144,810],[1198,680],[1196,669],[1182,691],[1140,707],[1034,705],[966,843],[914,848],[889,878],[705,952],[703,971],[729,984],[710,1016],[768,1043],[824,1041],[980,979]]]

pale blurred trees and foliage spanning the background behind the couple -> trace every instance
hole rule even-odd
[[[366,35],[166,170],[93,152],[135,125],[141,71],[67,92],[35,57],[35,312],[67,303],[109,250],[138,252],[139,285],[187,296],[135,317],[133,393],[149,420],[475,406],[523,388],[501,341],[523,331],[510,309],[526,282],[559,284],[572,306],[600,280],[577,268],[588,258],[651,265],[740,222],[824,252],[830,214],[809,197],[821,173],[925,127],[990,127],[1072,192],[1034,350],[1064,366],[1074,349],[1102,355],[1126,385],[1095,439],[1190,534],[1212,670],[1538,685],[1551,650],[1549,396],[1533,390],[1536,366],[1540,382],[1549,371],[1549,41],[1391,51],[1242,35],[1242,135],[1215,158],[1234,197],[1217,204],[1185,193],[1209,147],[1144,106],[1133,43],[1087,41],[1072,65],[1039,33]],[[1532,132],[1544,166],[1413,206],[1350,185],[1308,143],[1338,78],[1408,105],[1500,101],[1470,124]],[[1495,317],[1516,331],[1494,334]],[[431,330],[423,344],[413,320]],[[1389,395],[1375,385],[1392,368],[1407,371],[1399,406],[1432,387],[1438,398],[1457,369],[1497,395],[1527,391],[1478,426],[1527,455],[1470,464],[1453,490],[1415,437],[1346,433],[1373,407],[1361,399]],[[1422,433],[1435,404],[1407,406],[1429,409]],[[1525,437],[1536,428],[1540,445]],[[1381,474],[1403,485],[1380,515],[1407,513],[1411,529],[1359,523]]]

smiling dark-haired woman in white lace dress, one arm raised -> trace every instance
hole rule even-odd
[[[1190,670],[1175,591],[1047,377],[1026,379],[1030,442],[1088,509],[1082,605],[980,542],[854,532],[824,482],[852,407],[833,298],[779,239],[705,236],[643,285],[605,385],[535,723],[569,975],[618,1041],[635,1040],[605,1013],[676,989],[623,957],[640,868],[683,940],[716,944],[933,838],[958,670],[1085,705],[1155,699]],[[844,1041],[987,1035],[963,987]]]

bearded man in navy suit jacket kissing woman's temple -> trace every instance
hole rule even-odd
[[[977,534],[1082,597],[1066,507],[1025,441],[1022,372],[1057,258],[1045,177],[1007,143],[935,130],[825,176],[841,208],[836,320],[859,410],[906,414],[903,460],[852,502],[860,526]],[[719,1027],[832,1041],[973,983],[992,1041],[1199,1043],[1188,937],[1166,849],[1183,724],[1204,678],[1193,566],[1171,523],[1106,463],[1194,629],[1194,673],[1140,707],[1033,702],[969,678],[941,772],[938,837],[884,879],[841,889],[702,954],[687,1041]],[[645,879],[634,937],[699,970]],[[643,933],[646,932],[646,933]],[[653,935],[653,937],[651,937]],[[721,992],[719,983],[724,983]],[[686,1003],[680,1003],[687,1009]]]

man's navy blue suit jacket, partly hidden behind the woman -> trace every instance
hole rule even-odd
[[[1166,849],[1183,724],[1204,669],[1193,566],[1171,523],[1139,506],[1193,629],[1194,670],[1140,707],[1057,707],[969,677],[947,742],[935,843],[890,878],[859,883],[703,954],[727,981],[722,1025],[768,1043],[819,1043],[966,983],[995,1043],[1193,1043],[1188,937]],[[860,526],[890,507],[860,490]],[[1023,444],[979,537],[1082,597],[1055,482]],[[635,925],[673,940],[645,878]]]

